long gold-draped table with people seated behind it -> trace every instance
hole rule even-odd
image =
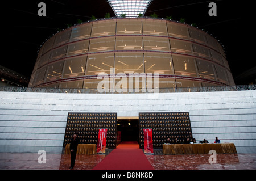
[[[215,150],[216,153],[237,153],[233,143],[163,144],[163,154],[208,154],[210,150]]]

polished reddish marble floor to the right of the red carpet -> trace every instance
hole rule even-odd
[[[217,154],[217,163],[209,163],[209,154],[146,155],[157,170],[256,169],[256,154]]]

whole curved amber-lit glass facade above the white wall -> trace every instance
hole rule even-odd
[[[97,89],[102,73],[158,73],[159,88],[234,85],[224,50],[208,33],[169,20],[115,18],[53,35],[39,50],[29,87]]]

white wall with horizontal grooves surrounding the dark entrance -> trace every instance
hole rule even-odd
[[[189,112],[197,141],[233,142],[256,153],[256,90],[161,94],[0,92],[0,151],[60,152],[68,112]]]

